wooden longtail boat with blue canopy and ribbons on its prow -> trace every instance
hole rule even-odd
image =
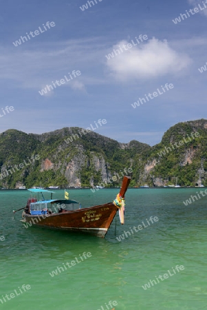
[[[120,193],[113,200],[113,203],[74,210],[67,210],[65,206],[78,203],[76,200],[54,200],[51,191],[28,189],[33,194],[41,194],[43,200],[37,200],[36,197],[29,198],[21,221],[25,223],[26,228],[34,225],[49,229],[80,231],[104,238],[118,209],[121,223],[124,223],[124,195],[127,192],[130,180],[129,176],[124,176]],[[51,199],[45,200],[44,193],[50,193]]]

